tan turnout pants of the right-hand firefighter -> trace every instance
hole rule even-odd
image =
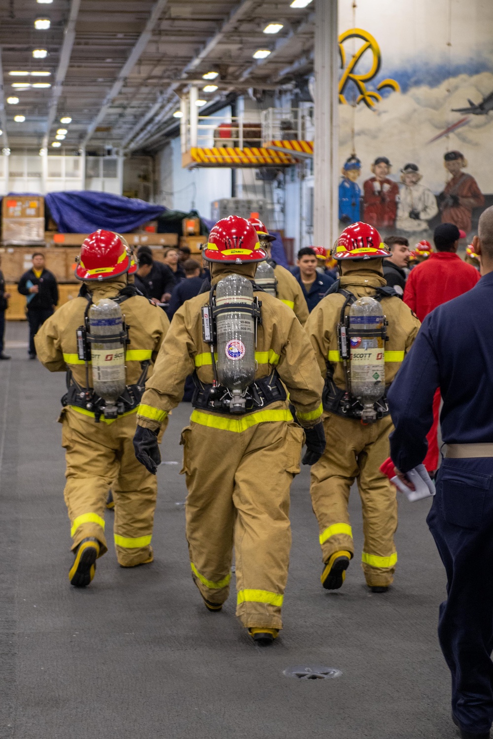
[[[390,585],[397,554],[395,487],[379,467],[390,454],[390,416],[363,426],[359,420],[330,413],[324,417],[327,446],[311,469],[310,494],[319,522],[324,562],[336,551],[354,554],[353,533],[347,513],[355,480],[363,508],[364,551],[362,568],[368,585]]]

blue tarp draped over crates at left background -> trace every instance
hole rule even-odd
[[[166,210],[163,205],[89,190],[50,192],[44,200],[62,234],[90,234],[98,228],[128,234]]]

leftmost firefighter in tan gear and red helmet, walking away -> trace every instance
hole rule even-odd
[[[79,296],[45,321],[35,337],[38,358],[67,372],[58,419],[66,450],[67,503],[75,562],[69,579],[89,585],[107,551],[104,510],[115,500],[115,548],[122,567],[152,562],[156,477],[135,458],[137,406],[169,328],[163,310],[144,298],[129,275],[137,270],[121,236],[86,238],[75,270]]]

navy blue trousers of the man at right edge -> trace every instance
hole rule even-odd
[[[472,733],[493,721],[493,457],[445,459],[427,522],[446,569],[438,638],[452,712]]]

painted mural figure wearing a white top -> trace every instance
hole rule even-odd
[[[438,213],[435,195],[420,184],[422,177],[417,164],[409,163],[401,169],[402,185],[395,225],[402,231],[427,231],[429,220]]]

